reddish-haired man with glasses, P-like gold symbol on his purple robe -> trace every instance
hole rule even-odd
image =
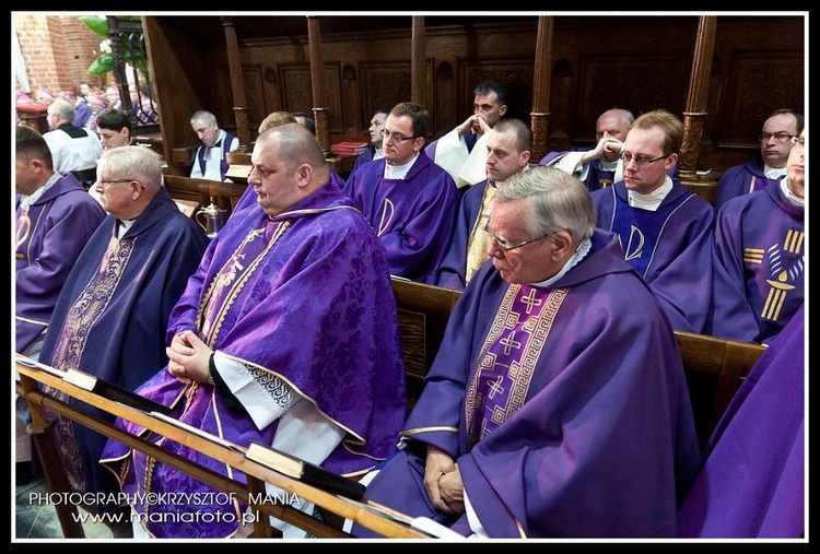
[[[666,110],[643,114],[621,149],[623,180],[591,193],[598,227],[616,233],[675,329],[707,332],[714,210],[667,172],[678,162],[683,123]]]

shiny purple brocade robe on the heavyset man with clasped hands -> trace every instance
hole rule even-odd
[[[272,220],[258,205],[229,219],[174,308],[167,340],[185,330],[253,368],[261,386],[284,380],[342,427],[347,435],[324,468],[364,472],[395,448],[407,396],[390,276],[375,233],[335,185]],[[271,445],[277,433],[279,420],[257,428],[235,397],[207,384],[185,385],[167,368],[138,392],[171,406],[173,417],[242,447]],[[121,420],[117,424],[245,481],[243,473],[186,446]],[[144,506],[138,497],[132,506],[138,512],[167,516],[148,523],[155,537],[231,537],[239,526],[235,516],[244,505],[142,452],[109,440],[102,462],[122,476],[127,493],[208,493],[194,509],[225,516],[191,521],[180,516],[191,506]]]

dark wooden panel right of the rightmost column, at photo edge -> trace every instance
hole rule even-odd
[[[715,137],[718,145],[757,148],[758,133],[769,114],[778,108],[804,111],[801,51],[736,51],[727,66],[727,89],[734,94],[723,96],[717,111],[717,128],[723,131]]]

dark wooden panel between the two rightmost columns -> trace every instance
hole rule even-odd
[[[595,121],[612,107],[629,109],[635,117],[666,109],[682,119],[691,64],[691,55],[683,52],[582,58],[576,139],[594,143]]]

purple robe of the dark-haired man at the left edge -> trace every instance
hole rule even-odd
[[[105,211],[67,174],[25,210],[16,197],[14,251],[15,351],[23,352],[48,327],[66,279]]]

